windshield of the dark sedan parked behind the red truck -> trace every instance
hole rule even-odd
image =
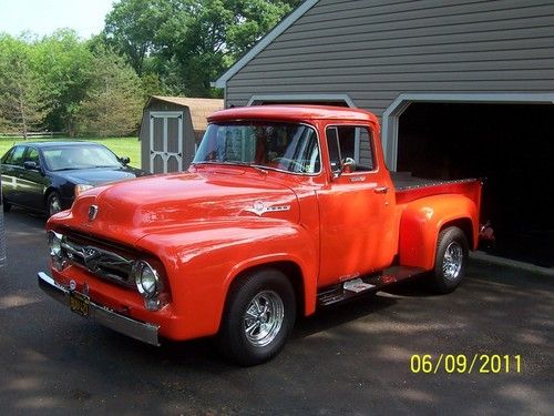
[[[115,154],[99,144],[49,146],[42,155],[50,171],[122,166]]]

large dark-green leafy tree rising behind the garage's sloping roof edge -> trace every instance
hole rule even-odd
[[[211,82],[300,0],[121,0],[104,37],[137,73],[155,72],[168,90],[220,94]]]

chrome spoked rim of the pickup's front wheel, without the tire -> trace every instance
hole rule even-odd
[[[258,293],[248,304],[243,317],[246,339],[257,347],[271,343],[280,331],[285,306],[273,291]]]

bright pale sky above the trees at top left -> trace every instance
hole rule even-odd
[[[76,30],[88,39],[104,28],[114,0],[0,0],[0,32],[39,37],[61,28]]]

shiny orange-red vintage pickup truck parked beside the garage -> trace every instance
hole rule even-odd
[[[362,110],[250,106],[208,121],[188,172],[91,189],[49,220],[43,291],[153,345],[217,335],[253,365],[318,307],[423,273],[439,292],[459,285],[480,181],[392,174]]]

